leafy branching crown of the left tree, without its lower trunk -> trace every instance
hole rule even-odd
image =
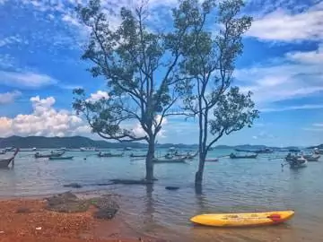
[[[101,137],[154,143],[163,117],[169,115],[178,99],[174,85],[179,82],[179,48],[188,22],[176,22],[170,33],[152,32],[147,28],[147,13],[142,5],[135,11],[122,7],[119,26],[111,26],[99,0],[78,6],[77,13],[91,30],[82,57],[92,62],[90,72],[94,77],[107,80],[109,99],[93,103],[86,99],[84,91],[75,90],[74,109]],[[159,121],[157,115],[162,117]],[[142,126],[144,136],[137,137],[131,129],[122,127],[130,119]]]

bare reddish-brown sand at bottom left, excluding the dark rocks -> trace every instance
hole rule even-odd
[[[87,212],[61,213],[45,210],[41,199],[11,199],[0,201],[1,242],[162,242],[163,239],[143,237],[127,227],[120,215],[112,220],[92,217],[95,208]]]

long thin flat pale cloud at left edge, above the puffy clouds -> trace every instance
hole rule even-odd
[[[39,88],[57,80],[42,73],[0,71],[0,84],[13,87]]]

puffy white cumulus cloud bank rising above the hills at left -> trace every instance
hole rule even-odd
[[[39,96],[31,98],[31,114],[19,114],[16,117],[0,117],[0,136],[44,135],[65,136],[74,134],[89,134],[89,128],[80,117],[64,109],[53,108],[55,99]]]

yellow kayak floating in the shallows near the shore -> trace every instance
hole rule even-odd
[[[292,218],[293,211],[201,214],[191,218],[192,222],[215,227],[260,226],[282,223]]]

